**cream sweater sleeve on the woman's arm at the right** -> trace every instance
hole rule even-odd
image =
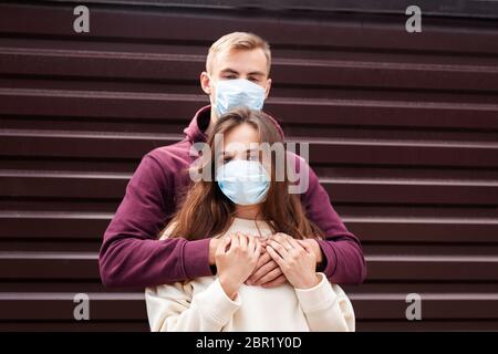
[[[321,281],[310,289],[295,289],[299,304],[311,332],[354,332],[355,319],[351,301],[325,274],[318,273]]]

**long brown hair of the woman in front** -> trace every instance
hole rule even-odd
[[[180,207],[166,226],[169,238],[185,238],[198,240],[225,233],[235,217],[235,205],[228,199],[215,180],[215,136],[228,134],[242,124],[253,127],[259,134],[259,143],[282,143],[282,137],[272,118],[267,114],[248,108],[239,108],[218,118],[208,137],[209,156],[205,157],[203,166],[197,167],[199,174],[210,167],[209,180],[200,179],[193,183],[180,201]],[[286,154],[287,155],[287,154]],[[286,158],[286,164],[288,164]],[[294,164],[294,162],[291,162]],[[323,231],[311,222],[304,214],[299,195],[289,194],[288,168],[284,168],[284,178],[276,178],[276,155],[271,154],[271,183],[266,200],[262,202],[261,218],[272,228],[273,232],[284,232],[295,239],[323,237]],[[293,168],[293,167],[292,167]],[[294,169],[292,169],[294,170]],[[163,230],[165,230],[163,229]],[[162,231],[163,232],[163,231]],[[160,232],[160,233],[162,233]]]

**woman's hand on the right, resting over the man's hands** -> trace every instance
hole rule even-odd
[[[320,282],[317,275],[317,256],[307,242],[279,232],[267,244],[268,253],[294,288],[313,288]]]

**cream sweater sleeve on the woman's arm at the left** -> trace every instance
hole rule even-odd
[[[153,332],[220,332],[240,308],[219,279],[193,299],[191,282],[159,285],[145,290],[147,315]]]

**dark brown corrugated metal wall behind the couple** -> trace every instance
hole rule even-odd
[[[409,34],[403,11],[90,9],[76,34],[73,6],[0,4],[0,330],[148,329],[141,290],[101,285],[101,239],[141,157],[207,103],[205,54],[235,30],[270,41],[266,108],[311,142],[363,241],[357,329],[498,330],[497,20]]]

